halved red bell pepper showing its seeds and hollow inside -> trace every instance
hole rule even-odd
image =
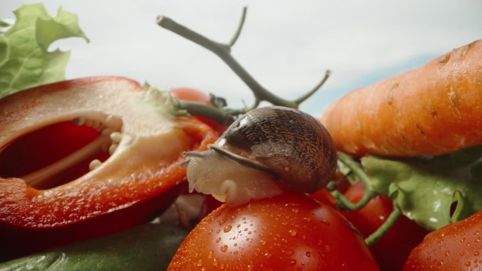
[[[10,163],[0,170],[0,253],[13,258],[116,232],[170,206],[185,183],[181,153],[206,149],[217,134],[194,118],[173,117],[162,104],[167,100],[158,96],[124,77],[88,77],[0,99],[0,163]],[[69,125],[75,130],[72,121],[87,145],[49,165],[29,166],[33,172],[23,176],[2,176],[22,168],[22,162],[8,162],[5,153],[15,152],[25,134],[42,138],[49,129]],[[82,130],[84,123],[96,127],[97,135]],[[52,137],[61,144],[63,136]],[[90,163],[90,171],[69,182],[52,183],[78,170],[76,163],[88,166],[86,159],[89,164],[101,157],[94,153],[102,148],[110,149],[111,156],[104,153]],[[44,153],[45,160],[52,156]]]

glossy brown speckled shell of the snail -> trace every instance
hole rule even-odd
[[[209,148],[305,193],[325,187],[337,165],[326,128],[307,113],[281,106],[249,111]]]

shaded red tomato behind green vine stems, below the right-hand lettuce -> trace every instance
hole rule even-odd
[[[361,182],[352,185],[345,192],[345,196],[357,203],[365,193]],[[390,198],[378,195],[360,210],[342,212],[357,229],[368,237],[375,232],[392,213],[393,205]],[[428,231],[407,217],[401,215],[390,230],[371,246],[370,250],[378,261],[381,270],[402,270],[410,251],[419,244]]]

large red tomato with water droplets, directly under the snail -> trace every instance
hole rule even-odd
[[[285,192],[223,205],[199,222],[168,270],[378,270],[364,240],[333,208]]]

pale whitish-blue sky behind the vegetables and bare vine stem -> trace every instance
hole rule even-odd
[[[0,18],[22,3],[0,2]],[[217,42],[247,18],[232,53],[266,89],[295,99],[333,71],[302,110],[321,115],[330,101],[482,38],[482,1],[49,0],[77,13],[91,40],[52,44],[71,51],[66,77],[122,75],[161,89],[195,87],[248,105],[249,88],[220,58],[156,25],[165,15]]]

